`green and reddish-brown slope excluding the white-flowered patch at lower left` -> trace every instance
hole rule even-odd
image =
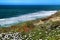
[[[8,28],[0,28],[1,32],[21,32],[22,37],[26,35],[26,38],[33,40],[60,40],[60,12],[41,20],[32,20]],[[29,37],[29,34],[31,37]]]

